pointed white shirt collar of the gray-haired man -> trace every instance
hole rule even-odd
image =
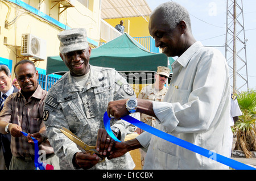
[[[203,47],[203,44],[200,41],[196,41],[191,47],[189,47],[179,58],[177,58],[177,62],[182,65],[184,68],[187,66],[189,60],[196,53],[196,51]]]

